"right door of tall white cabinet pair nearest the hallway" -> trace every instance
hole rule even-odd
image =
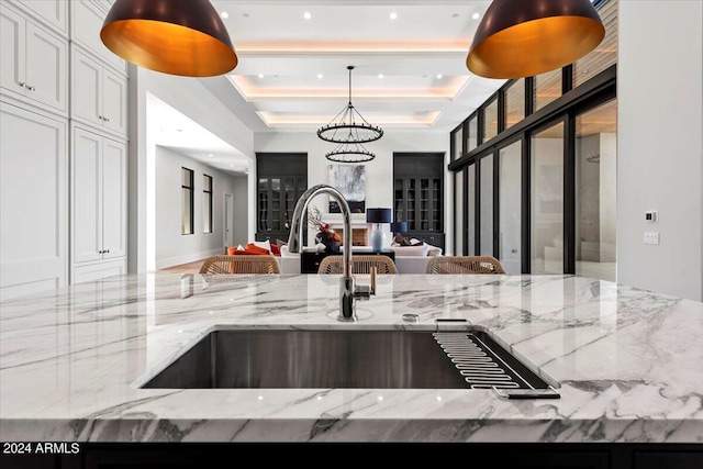
[[[124,257],[127,252],[127,148],[103,139],[102,146],[102,249],[103,259]]]

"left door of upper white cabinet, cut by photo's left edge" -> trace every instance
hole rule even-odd
[[[24,96],[24,56],[26,21],[0,5],[0,87],[2,91]]]

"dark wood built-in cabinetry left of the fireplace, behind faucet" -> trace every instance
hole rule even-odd
[[[308,154],[256,154],[256,241],[288,241],[293,210],[308,189]]]

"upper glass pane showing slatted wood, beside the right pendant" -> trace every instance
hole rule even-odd
[[[617,63],[617,3],[618,0],[610,0],[599,8],[605,37],[594,51],[573,64],[574,88]]]

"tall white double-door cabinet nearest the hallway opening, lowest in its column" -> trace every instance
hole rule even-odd
[[[74,127],[74,267],[126,256],[126,157],[124,142]]]

